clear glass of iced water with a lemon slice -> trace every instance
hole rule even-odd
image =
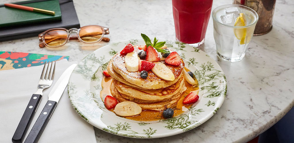
[[[230,62],[243,59],[253,36],[258,14],[251,8],[228,4],[212,12],[217,55]]]

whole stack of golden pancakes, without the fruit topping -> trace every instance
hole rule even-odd
[[[134,46],[135,53],[138,53],[138,46]],[[175,105],[186,86],[182,70],[184,62],[179,66],[173,66],[164,63],[175,76],[174,81],[167,81],[156,76],[151,70],[148,71],[147,79],[142,79],[140,71],[129,72],[125,65],[125,56],[120,53],[113,56],[108,63],[107,71],[113,78],[111,84],[111,93],[119,102],[133,101],[137,103],[142,110],[162,111]]]

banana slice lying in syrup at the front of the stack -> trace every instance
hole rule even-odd
[[[134,116],[139,115],[142,108],[135,102],[123,101],[115,106],[114,112],[120,116]]]

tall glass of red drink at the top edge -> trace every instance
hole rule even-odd
[[[213,0],[173,0],[177,40],[200,46],[204,43]]]

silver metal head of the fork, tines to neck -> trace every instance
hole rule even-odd
[[[50,87],[52,82],[53,82],[56,62],[54,62],[53,72],[52,72],[53,61],[51,62],[50,69],[49,69],[50,61],[48,62],[48,66],[47,66],[45,76],[44,76],[46,63],[47,63],[47,61],[44,64],[43,71],[41,73],[41,77],[40,77],[40,80],[39,80],[39,83],[38,83],[38,91],[35,94],[43,95],[43,89],[46,89],[46,88]],[[50,78],[51,75],[52,75],[52,77]]]

